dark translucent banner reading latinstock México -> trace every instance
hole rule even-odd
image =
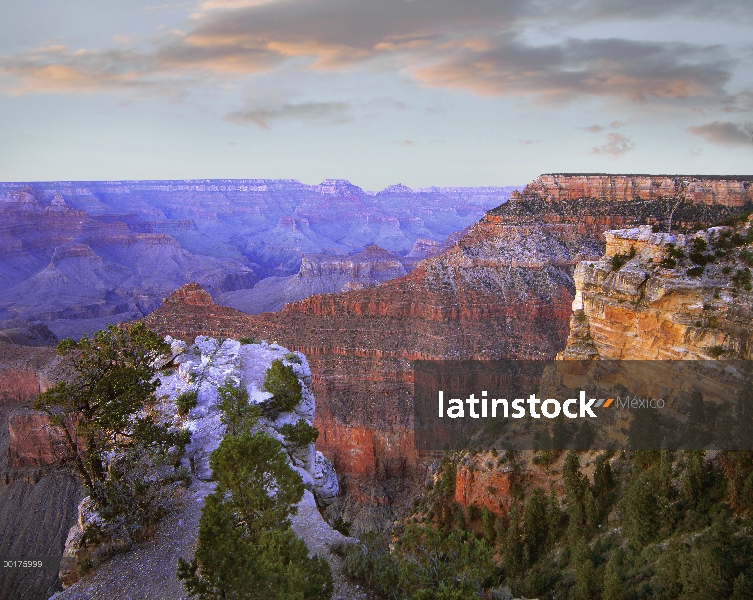
[[[753,450],[751,361],[415,361],[420,451]]]

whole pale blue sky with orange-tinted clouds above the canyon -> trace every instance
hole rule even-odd
[[[0,0],[0,180],[753,174],[751,0]]]

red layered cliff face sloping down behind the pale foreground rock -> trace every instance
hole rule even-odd
[[[579,180],[572,178],[570,196],[584,193]],[[168,302],[147,323],[179,336],[249,335],[304,352],[319,399],[319,444],[344,475],[347,497],[390,504],[401,498],[396,478],[417,481],[422,473],[411,360],[553,358],[567,340],[575,265],[602,255],[605,230],[708,223],[741,210],[668,196],[555,199],[532,185],[442,254],[379,286],[245,318],[211,318],[218,309]],[[345,512],[358,521],[355,505]]]

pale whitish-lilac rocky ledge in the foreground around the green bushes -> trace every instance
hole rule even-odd
[[[193,474],[187,487],[175,483],[174,510],[158,524],[151,539],[133,543],[133,540],[110,540],[98,545],[87,545],[84,530],[99,518],[91,509],[88,498],[79,505],[76,524],[66,541],[64,556],[73,566],[61,571],[64,585],[70,586],[55,596],[63,598],[183,598],[185,591],[176,577],[179,557],[190,559],[197,539],[198,520],[204,498],[211,493],[209,456],[225,433],[217,408],[218,388],[228,381],[245,386],[252,404],[263,404],[272,395],[264,390],[263,381],[273,360],[280,359],[293,368],[302,387],[301,402],[291,412],[280,413],[274,420],[262,418],[257,428],[267,432],[285,445],[289,462],[301,476],[306,491],[292,517],[296,534],[309,550],[323,554],[333,567],[338,557],[330,551],[342,543],[356,540],[347,538],[332,529],[321,517],[317,506],[332,502],[338,494],[338,481],[330,462],[316,451],[314,444],[293,447],[280,428],[285,424],[305,419],[313,422],[315,399],[311,392],[311,371],[306,357],[289,352],[276,344],[242,344],[230,339],[196,338],[195,343],[168,338],[173,351],[171,361],[159,374],[160,387],[157,411],[161,418],[175,427],[191,432],[191,443],[182,459],[182,468]],[[195,391],[197,403],[186,416],[177,412],[176,398],[185,392]],[[180,468],[180,467],[178,467]],[[106,561],[115,552],[127,551]],[[98,566],[79,580],[82,564]],[[336,569],[333,569],[336,572]],[[138,576],[136,575],[138,573]],[[361,597],[359,590],[350,589],[348,582],[337,578],[336,597]]]

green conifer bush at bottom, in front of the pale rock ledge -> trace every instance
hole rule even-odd
[[[331,598],[329,564],[309,558],[288,521],[303,497],[300,476],[280,442],[252,432],[258,409],[248,404],[244,386],[226,382],[220,397],[227,433],[210,457],[217,485],[201,514],[194,558],[179,560],[178,578],[201,600]],[[290,427],[310,438],[299,425]]]

